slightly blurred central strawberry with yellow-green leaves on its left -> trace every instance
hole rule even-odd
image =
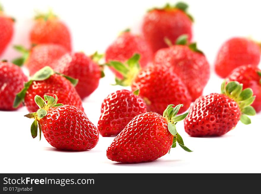
[[[147,110],[162,113],[168,103],[184,104],[184,112],[190,106],[191,96],[180,78],[166,66],[151,65],[139,70],[139,55],[135,54],[127,65],[111,61],[109,65],[122,73],[123,79],[115,79],[116,84],[131,85],[132,91],[139,89],[139,96],[146,102]]]

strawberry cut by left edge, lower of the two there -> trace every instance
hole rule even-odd
[[[0,110],[15,110],[13,108],[15,95],[26,81],[27,77],[20,67],[0,61]]]

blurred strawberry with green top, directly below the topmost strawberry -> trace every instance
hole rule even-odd
[[[154,62],[178,72],[193,101],[202,95],[210,77],[210,66],[196,43],[187,45],[187,35],[180,36],[176,45],[158,50]]]

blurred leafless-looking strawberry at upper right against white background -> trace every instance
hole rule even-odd
[[[231,38],[225,42],[217,53],[216,73],[225,78],[241,65],[257,66],[260,61],[260,46],[247,38]]]

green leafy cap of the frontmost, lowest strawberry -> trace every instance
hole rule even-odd
[[[168,120],[168,131],[174,136],[171,148],[175,148],[176,143],[178,143],[179,146],[182,147],[182,149],[184,149],[185,151],[192,152],[184,145],[182,137],[176,130],[176,123],[186,118],[189,112],[184,113],[183,115],[176,116],[179,112],[180,107],[182,107],[183,105],[179,104],[175,107],[173,106],[174,105],[172,104],[168,105],[168,107],[163,112],[163,117]]]

